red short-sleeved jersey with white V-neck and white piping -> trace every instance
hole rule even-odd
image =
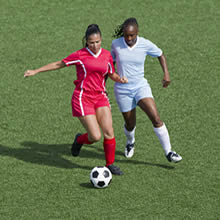
[[[88,48],[82,48],[62,60],[67,66],[75,65],[77,80],[76,90],[90,92],[105,91],[105,75],[114,73],[111,53],[103,48],[94,54]]]

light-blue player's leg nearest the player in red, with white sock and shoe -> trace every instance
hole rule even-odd
[[[124,133],[127,137],[125,145],[125,157],[131,158],[134,155],[134,145],[135,145],[135,129],[136,129],[136,108],[131,111],[122,112],[125,125]]]

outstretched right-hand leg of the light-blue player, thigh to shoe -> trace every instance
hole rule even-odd
[[[154,132],[160,140],[167,159],[171,162],[179,162],[182,157],[176,152],[171,151],[171,143],[166,125],[160,119],[157,107],[153,98],[143,98],[139,100],[138,105],[148,115],[154,126]]]

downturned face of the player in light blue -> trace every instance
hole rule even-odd
[[[132,47],[137,41],[138,28],[136,25],[129,25],[124,29],[123,34],[127,45]]]

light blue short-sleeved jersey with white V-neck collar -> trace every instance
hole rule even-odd
[[[117,72],[120,77],[125,76],[128,83],[115,83],[115,88],[135,88],[146,85],[144,78],[144,62],[147,55],[159,57],[162,50],[151,41],[137,36],[137,42],[129,47],[124,37],[113,40],[111,54],[117,65]]]

